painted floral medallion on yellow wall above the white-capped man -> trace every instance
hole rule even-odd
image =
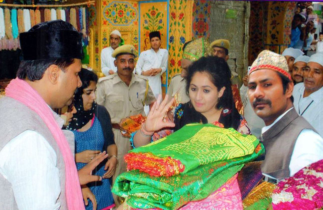
[[[131,25],[137,20],[137,9],[127,1],[112,1],[108,5],[102,3],[103,25]]]

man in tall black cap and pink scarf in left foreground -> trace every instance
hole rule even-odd
[[[0,100],[0,206],[85,209],[80,183],[100,180],[89,174],[104,152],[78,175],[73,133],[61,130],[64,121],[53,111],[82,85],[82,34],[54,20],[21,33],[20,44],[24,59]]]

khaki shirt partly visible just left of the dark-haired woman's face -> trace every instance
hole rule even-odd
[[[169,96],[175,97],[176,104],[186,103],[189,96],[186,94],[186,80],[180,74],[173,76],[167,89]]]

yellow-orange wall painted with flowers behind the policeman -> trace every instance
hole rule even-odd
[[[161,47],[169,50],[168,71],[162,78],[166,86],[172,76],[180,73],[182,45],[192,38],[193,3],[194,0],[97,0],[96,7],[90,9],[90,66],[101,71],[100,53],[110,45],[112,30],[118,29],[125,43],[133,44],[139,53],[150,48],[149,32],[159,30]]]

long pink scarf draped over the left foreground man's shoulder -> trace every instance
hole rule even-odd
[[[11,80],[6,88],[6,95],[30,107],[46,123],[47,127],[53,134],[64,158],[66,176],[65,193],[68,209],[85,209],[78,171],[74,162],[74,156],[65,135],[54,118],[52,110],[48,107],[45,100],[35,89],[33,89],[25,80],[19,78]]]

